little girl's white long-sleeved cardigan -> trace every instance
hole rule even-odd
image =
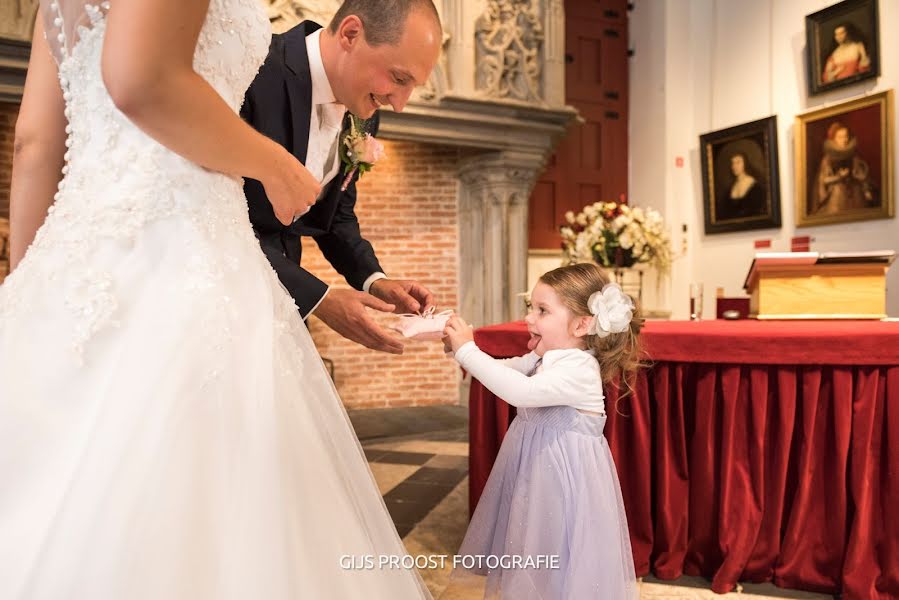
[[[548,350],[538,365],[540,357],[533,352],[498,360],[474,342],[467,342],[454,358],[484,387],[512,406],[571,406],[605,414],[599,363],[586,350]],[[535,366],[536,372],[528,376]]]

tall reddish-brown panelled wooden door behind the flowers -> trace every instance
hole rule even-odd
[[[566,0],[565,96],[584,119],[569,129],[530,199],[531,248],[558,249],[566,211],[627,196],[626,0]]]

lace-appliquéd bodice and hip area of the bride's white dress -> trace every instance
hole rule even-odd
[[[201,250],[188,254],[195,272],[237,269],[219,260],[217,248],[249,244],[258,251],[242,180],[181,158],[116,109],[101,72],[109,2],[84,8],[89,23],[78,26],[78,41],[59,65],[69,122],[63,178],[20,268],[0,287],[0,317],[13,318],[28,310],[17,301],[21,273],[38,261],[44,273],[46,265],[56,267],[48,283],[58,288],[74,318],[71,346],[79,359],[87,342],[114,323],[119,306],[116,258],[105,254],[118,252],[119,260],[125,260],[154,223],[166,221],[182,236],[179,242],[187,252],[191,240],[198,240]],[[65,47],[66,28],[56,2],[51,9],[57,12],[54,25]],[[256,0],[212,0],[194,68],[237,112],[270,40],[271,27]],[[213,240],[219,243],[206,243]],[[97,260],[98,254],[105,260]]]

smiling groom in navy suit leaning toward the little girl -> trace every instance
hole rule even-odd
[[[281,283],[307,318],[313,312],[343,337],[402,354],[365,307],[416,312],[433,296],[415,281],[388,278],[356,218],[356,180],[343,191],[341,133],[350,113],[370,119],[380,106],[402,111],[440,54],[442,29],[432,0],[346,0],[327,29],[304,21],[272,38],[268,57],[247,91],[241,116],[289,150],[322,183],[312,209],[290,226],[275,217],[262,184],[247,179],[250,220]],[[301,236],[311,236],[355,290],[329,289],[300,266]]]

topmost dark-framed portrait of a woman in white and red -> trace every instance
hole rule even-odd
[[[805,18],[809,94],[880,75],[878,0],[844,0]]]

